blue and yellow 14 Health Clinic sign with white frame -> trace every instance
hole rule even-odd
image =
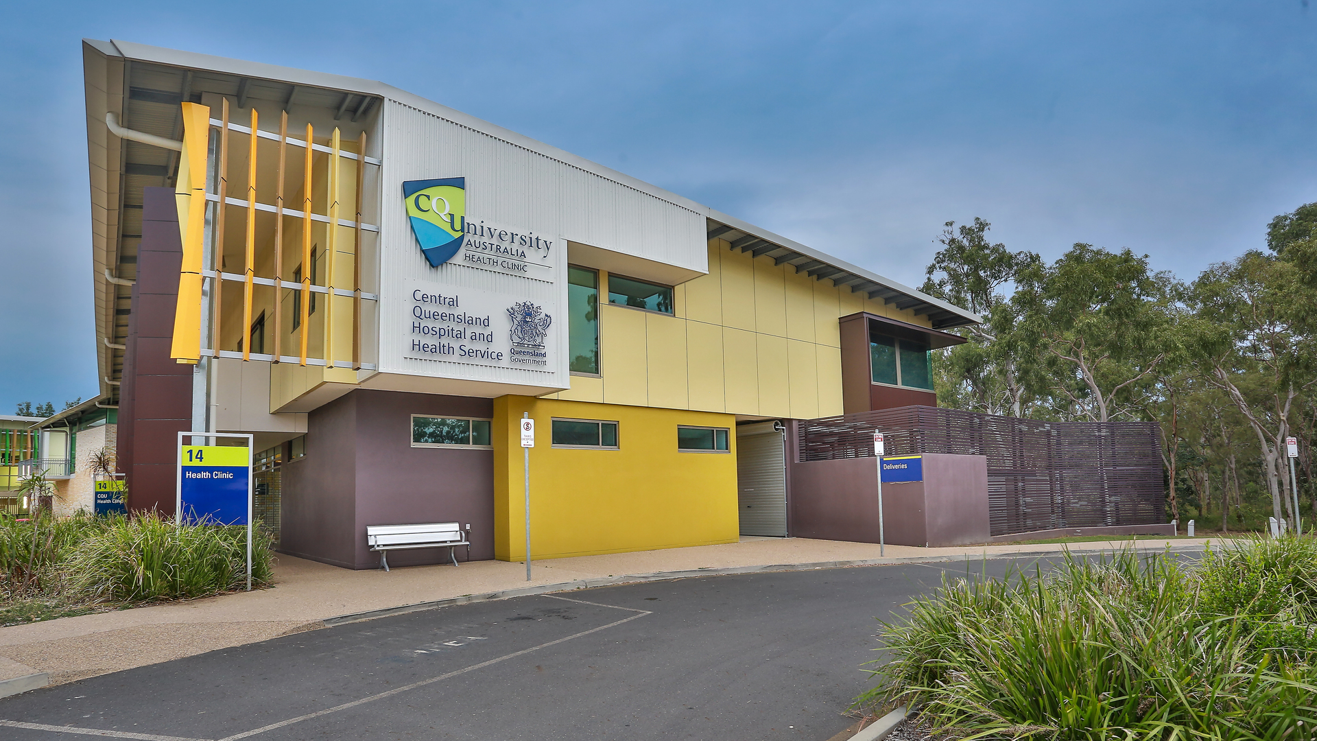
[[[184,446],[183,438],[241,438],[246,447]],[[179,432],[178,481],[174,522],[195,525],[246,525],[248,592],[252,591],[252,463],[255,435],[228,432]]]

